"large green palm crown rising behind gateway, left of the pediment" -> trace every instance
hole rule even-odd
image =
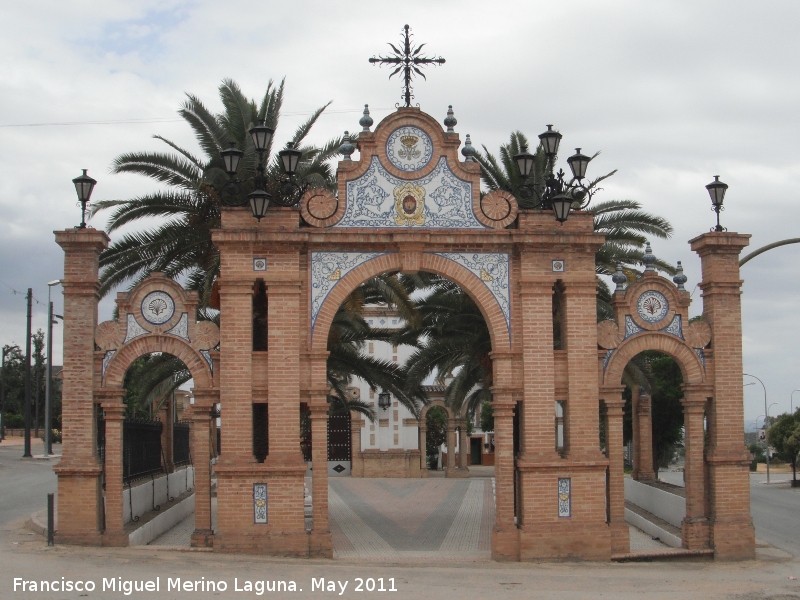
[[[219,274],[219,252],[211,242],[211,230],[220,227],[222,203],[216,190],[228,181],[220,150],[235,142],[243,149],[240,163],[242,179],[255,174],[258,156],[248,129],[259,120],[276,129],[283,104],[284,83],[270,81],[259,104],[248,100],[239,86],[225,80],[219,87],[224,110],[211,113],[199,98],[187,94],[178,114],[189,124],[203,151],[197,157],[189,150],[159,135],[154,136],[169,148],[167,152],[131,152],[118,156],[112,173],[138,173],[166,184],[158,190],[130,200],[110,200],[95,205],[94,213],[112,209],[107,231],[158,219],[159,224],[126,233],[100,257],[100,293],[108,294],[122,283],[133,284],[153,271],[173,279],[184,279],[189,289],[198,290],[201,306],[207,306],[211,287]],[[334,173],[327,163],[337,152],[341,140],[334,139],[322,148],[302,146],[314,123],[330,102],[316,111],[295,131],[291,142],[302,152],[297,176],[318,187],[333,187]],[[267,149],[266,174],[275,179],[281,172],[280,159]],[[243,186],[241,198],[252,191]],[[241,199],[240,198],[240,199]],[[165,221],[166,219],[166,221]]]

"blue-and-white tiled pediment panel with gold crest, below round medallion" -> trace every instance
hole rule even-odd
[[[395,177],[386,170],[377,156],[373,156],[369,168],[359,177],[347,182],[344,215],[332,226],[412,226],[426,229],[491,227],[476,217],[472,193],[472,184],[457,177],[444,156],[439,159],[433,171],[413,181]],[[301,210],[305,209],[301,207]],[[513,216],[515,215],[512,212],[506,218]],[[327,226],[327,222],[319,223],[319,226]]]

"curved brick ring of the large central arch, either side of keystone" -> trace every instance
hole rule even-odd
[[[327,350],[328,331],[330,330],[336,311],[348,294],[371,277],[389,271],[402,271],[400,253],[382,254],[372,260],[359,265],[331,290],[325,298],[317,315],[314,331],[311,337],[312,350]],[[442,275],[461,286],[478,305],[478,308],[489,326],[489,335],[492,340],[493,350],[508,350],[511,348],[511,339],[508,334],[508,325],[503,316],[503,311],[489,288],[473,273],[459,265],[436,254],[422,254],[420,271],[428,271]]]

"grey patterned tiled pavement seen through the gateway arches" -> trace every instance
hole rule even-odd
[[[494,478],[331,478],[328,510],[334,557],[379,562],[489,561]],[[310,488],[310,485],[308,486]],[[217,526],[217,499],[212,498]],[[153,546],[189,546],[190,515]],[[631,552],[667,546],[631,527]]]

